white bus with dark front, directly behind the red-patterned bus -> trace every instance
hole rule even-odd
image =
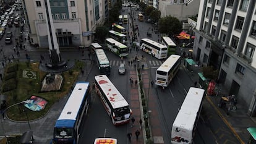
[[[110,75],[111,66],[103,49],[95,49],[95,57],[100,74]]]

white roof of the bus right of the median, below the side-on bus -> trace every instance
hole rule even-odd
[[[169,72],[169,70],[171,69],[171,67],[174,66],[174,64],[176,63],[176,61],[179,60],[181,56],[176,55],[176,54],[172,54],[171,56],[168,57],[168,59],[166,59],[166,61],[163,62],[163,64],[161,64],[160,67],[158,67],[158,69],[156,71],[163,71],[163,72]]]

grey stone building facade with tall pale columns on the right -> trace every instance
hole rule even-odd
[[[256,1],[201,0],[193,57],[219,70],[218,82],[255,116]]]

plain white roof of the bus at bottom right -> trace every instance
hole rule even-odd
[[[193,130],[204,92],[205,90],[202,88],[189,88],[181,109],[173,122],[173,127],[182,127],[182,129]]]

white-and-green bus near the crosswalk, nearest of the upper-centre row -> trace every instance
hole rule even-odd
[[[106,38],[106,44],[109,51],[117,54],[119,57],[127,57],[129,54],[129,49],[126,45],[114,40],[113,38]]]

